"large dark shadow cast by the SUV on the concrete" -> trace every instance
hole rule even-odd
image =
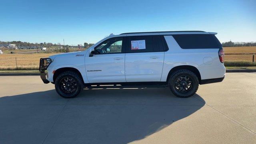
[[[0,135],[18,143],[39,143],[46,136],[45,143],[55,144],[129,143],[202,108],[204,100],[196,98],[177,98],[168,88],[85,89],[73,99],[55,90],[4,96]]]

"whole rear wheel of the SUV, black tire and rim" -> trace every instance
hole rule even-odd
[[[196,93],[199,82],[197,76],[190,70],[177,70],[171,74],[168,85],[174,95],[188,98]]]

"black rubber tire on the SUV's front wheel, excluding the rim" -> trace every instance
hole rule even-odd
[[[74,91],[74,93],[72,93],[72,94],[64,93],[61,90],[60,81],[66,77],[73,78],[76,82],[77,88]],[[55,90],[63,98],[74,98],[80,93],[81,89],[84,88],[84,83],[83,83],[81,76],[77,72],[73,72],[73,71],[67,71],[67,72],[63,72],[63,73],[59,74],[54,83],[55,83]]]

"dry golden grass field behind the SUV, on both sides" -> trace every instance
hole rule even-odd
[[[10,54],[14,51],[15,54]],[[17,54],[18,52],[28,52],[35,50],[8,50],[0,55],[0,70],[38,70],[39,59],[45,58],[56,53],[34,53]],[[226,47],[224,52],[227,54],[256,53],[256,46],[251,47]],[[225,55],[226,62],[252,62],[252,55]],[[17,67],[16,67],[17,60]],[[255,56],[256,60],[256,56]],[[18,68],[18,69],[17,69]]]

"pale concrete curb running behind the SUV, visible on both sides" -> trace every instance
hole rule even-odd
[[[227,69],[226,72],[256,72],[256,69]],[[0,76],[40,76],[40,73],[13,72],[13,73],[0,73]]]

